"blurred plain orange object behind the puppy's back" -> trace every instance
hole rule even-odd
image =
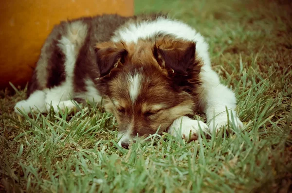
[[[133,0],[3,0],[0,6],[0,89],[32,76],[47,35],[60,20],[133,14]]]

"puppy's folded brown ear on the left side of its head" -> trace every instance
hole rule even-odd
[[[123,64],[128,52],[123,42],[102,42],[96,44],[97,65],[99,67],[100,77],[106,76],[110,70]]]

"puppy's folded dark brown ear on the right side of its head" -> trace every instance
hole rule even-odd
[[[161,38],[155,42],[153,54],[161,68],[187,75],[195,63],[196,43]]]

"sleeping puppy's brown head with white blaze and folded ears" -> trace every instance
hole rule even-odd
[[[103,42],[96,45],[105,108],[119,124],[120,144],[136,136],[164,132],[193,114],[201,70],[196,44],[171,37],[155,42]]]

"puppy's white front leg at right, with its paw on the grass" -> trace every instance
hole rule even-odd
[[[207,116],[210,132],[212,133],[214,129],[218,132],[220,127],[227,125],[228,122],[232,123],[232,120],[237,128],[243,127],[235,112],[235,94],[220,84],[218,74],[207,66],[201,71],[201,81],[199,107]]]

